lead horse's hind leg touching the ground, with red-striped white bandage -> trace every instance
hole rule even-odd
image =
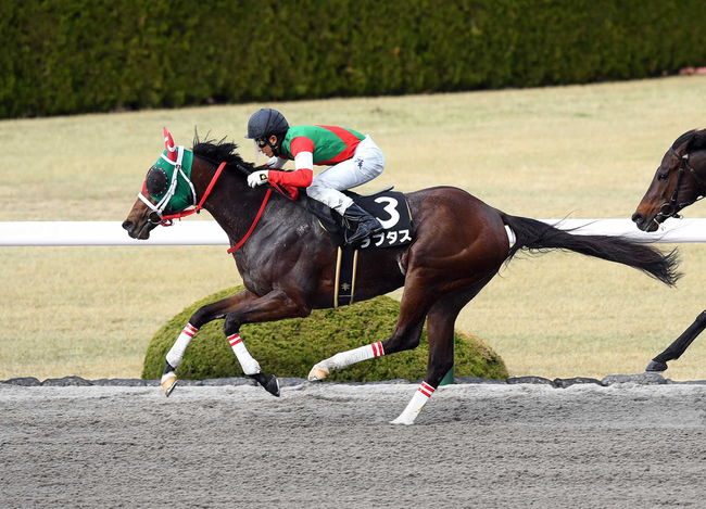
[[[491,279],[487,278],[470,289],[444,295],[429,309],[427,317],[427,336],[429,339],[427,377],[419,384],[402,413],[390,421],[391,424],[414,424],[415,419],[439,386],[441,379],[454,365],[454,325],[458,313]]]

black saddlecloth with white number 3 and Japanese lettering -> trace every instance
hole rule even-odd
[[[396,247],[412,242],[412,213],[403,193],[392,191],[392,187],[373,194],[342,192],[361,208],[375,216],[382,225],[381,232],[364,239],[354,246],[355,249]],[[310,196],[300,194],[300,200],[302,205],[318,218],[322,227],[336,240],[336,243],[343,246],[345,244],[345,224],[341,215]]]

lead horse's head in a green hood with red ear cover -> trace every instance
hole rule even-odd
[[[193,153],[184,147],[175,147],[166,128],[164,144],[164,152],[148,170],[142,190],[123,222],[123,228],[134,239],[149,239],[150,231],[164,224],[166,214],[197,204],[197,192],[191,182]]]

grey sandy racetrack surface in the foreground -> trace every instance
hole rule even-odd
[[[0,383],[0,507],[704,507],[706,385]]]

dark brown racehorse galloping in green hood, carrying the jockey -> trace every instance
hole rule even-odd
[[[164,132],[166,150],[157,161],[162,167],[155,165],[148,171],[123,228],[133,238],[148,239],[152,229],[175,217],[166,213],[190,205],[206,209],[228,234],[228,251],[245,290],[207,304],[190,317],[166,355],[162,389],[167,396],[174,389],[176,368],[199,328],[225,319],[225,335],[243,372],[279,395],[277,378],[263,372],[249,354],[240,327],[306,317],[312,309],[333,307],[338,244],[298,203],[301,196],[292,201],[264,186],[250,189],[245,177],[253,165],[238,155],[236,144],[200,141],[197,135],[188,151],[174,147],[172,136],[166,129]],[[167,192],[157,200],[164,189],[173,191],[173,199],[167,200]],[[426,320],[427,374],[391,421],[395,424],[414,423],[453,367],[458,313],[519,251],[575,251],[634,267],[669,285],[679,277],[676,252],[664,254],[619,237],[571,234],[535,219],[505,214],[458,188],[434,187],[405,196],[414,220],[413,242],[361,250],[355,283],[357,301],[404,287],[394,330],[383,341],[322,360],[308,373],[311,381],[323,380],[332,370],[354,362],[414,348]]]

